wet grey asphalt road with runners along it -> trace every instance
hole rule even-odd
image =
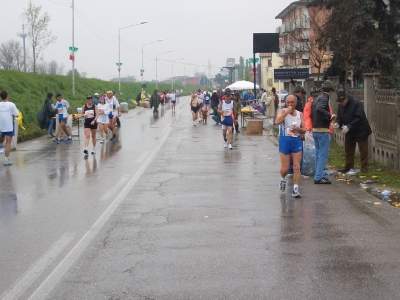
[[[189,99],[117,142],[18,145],[0,167],[0,299],[399,299],[400,216],[356,186],[278,188],[276,140],[193,126]]]

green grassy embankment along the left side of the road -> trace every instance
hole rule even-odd
[[[159,84],[161,89],[171,89],[170,85]],[[175,89],[182,89],[180,84],[174,85]],[[151,94],[155,84],[147,84],[146,94]],[[182,95],[188,95],[195,89],[187,86]],[[74,108],[82,107],[86,102],[87,94],[103,93],[108,90],[118,91],[118,82],[103,81],[93,78],[75,78],[75,95],[72,95],[72,79],[67,76],[26,74],[15,71],[0,70],[0,90],[7,91],[9,100],[14,102],[23,115],[23,125],[26,130],[19,130],[18,140],[24,141],[45,133],[40,130],[36,114],[43,106],[48,92],[54,95],[61,93],[63,98]],[[136,99],[141,91],[141,83],[121,83],[122,95],[118,95],[120,102]],[[55,98],[53,98],[55,102]],[[130,105],[132,108],[132,105]]]

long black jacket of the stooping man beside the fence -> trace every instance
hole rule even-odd
[[[361,101],[352,95],[349,95],[346,106],[338,106],[336,123],[340,127],[346,125],[350,129],[345,136],[346,142],[349,143],[365,141],[372,133]]]

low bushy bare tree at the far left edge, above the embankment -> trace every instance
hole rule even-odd
[[[0,67],[4,70],[21,71],[24,57],[20,42],[10,40],[0,45]]]

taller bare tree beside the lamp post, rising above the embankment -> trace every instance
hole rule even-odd
[[[22,14],[22,19],[27,24],[27,34],[32,46],[33,72],[36,73],[36,63],[42,59],[42,52],[57,40],[56,36],[48,30],[50,16],[41,15],[42,6],[35,6],[29,1],[28,9]]]

